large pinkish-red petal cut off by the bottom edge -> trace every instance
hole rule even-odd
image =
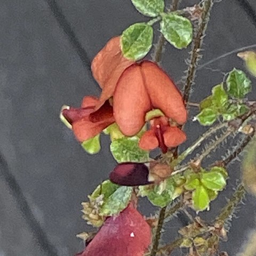
[[[77,256],[143,256],[150,243],[151,229],[130,203],[119,215],[107,218]]]

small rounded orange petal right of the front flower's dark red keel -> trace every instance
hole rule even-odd
[[[169,148],[179,146],[186,139],[186,134],[176,126],[167,127],[164,132],[164,143]]]

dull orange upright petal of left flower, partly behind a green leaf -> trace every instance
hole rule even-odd
[[[96,109],[113,95],[119,77],[132,63],[123,57],[119,36],[111,38],[96,55],[92,61],[92,74],[102,88]]]

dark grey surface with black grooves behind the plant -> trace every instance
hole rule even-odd
[[[196,2],[184,0],[182,5]],[[253,0],[215,4],[201,63],[256,43],[256,15],[247,4],[256,10]],[[87,155],[59,121],[59,110],[64,104],[79,106],[85,94],[99,95],[90,61],[109,38],[143,20],[130,0],[0,0],[1,256],[66,256],[83,249],[75,237],[87,229],[80,203],[108,177],[115,161],[107,137],[102,137],[100,154]],[[243,68],[235,55],[198,71],[192,101],[203,99],[222,81],[221,71]],[[187,57],[186,50],[166,46],[162,65],[180,87]],[[254,90],[250,98],[255,96]],[[191,122],[186,129],[187,143],[204,130]],[[226,194],[212,204],[212,216],[239,178],[236,163],[229,170],[234,177]],[[247,196],[236,214],[229,242],[222,245],[230,255],[254,227],[255,205]],[[153,207],[143,202],[141,209],[147,213]],[[166,227],[166,239],[175,236],[181,222],[175,219]]]

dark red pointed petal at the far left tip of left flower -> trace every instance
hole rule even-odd
[[[85,118],[88,119],[93,108],[66,108],[62,110],[62,115],[67,119],[70,124]]]

